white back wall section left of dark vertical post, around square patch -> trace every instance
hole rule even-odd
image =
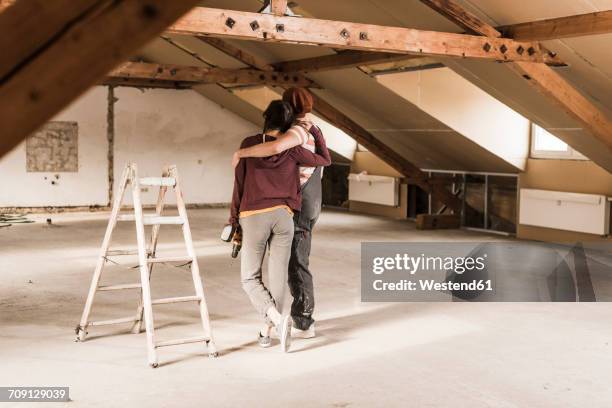
[[[78,172],[26,172],[25,141],[2,157],[0,207],[106,205],[106,112],[107,90],[96,87],[53,118],[78,122]]]

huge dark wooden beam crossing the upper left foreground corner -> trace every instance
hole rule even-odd
[[[60,1],[18,1],[0,13],[5,72],[0,77],[0,156],[189,11],[197,0],[69,2],[41,13],[42,3]],[[75,3],[91,7],[75,16]],[[24,15],[26,19],[16,19]],[[50,24],[51,30],[44,28]],[[20,25],[39,27],[36,43],[23,41]],[[43,38],[39,35],[43,31],[54,35]]]

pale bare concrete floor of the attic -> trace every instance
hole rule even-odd
[[[494,237],[324,213],[312,259],[319,335],[282,354],[254,342],[259,320],[240,288],[239,261],[218,239],[227,210],[189,214],[220,358],[201,345],[164,348],[151,369],[144,333],[125,326],[92,328],[74,343],[108,214],[53,215],[51,226],[0,229],[0,386],[70,386],[70,407],[612,406],[606,303],[360,303],[361,241]],[[133,239],[122,224],[116,246]],[[160,253],[181,254],[180,244],[164,227]],[[108,271],[106,282],[137,281],[137,270]],[[154,295],[190,290],[181,269],[153,275]],[[132,314],[136,301],[135,293],[100,294],[93,316]],[[195,309],[156,307],[158,338],[199,334]]]

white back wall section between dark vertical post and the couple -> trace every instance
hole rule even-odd
[[[258,132],[255,125],[191,90],[121,87],[115,97],[115,185],[127,162],[141,177],[176,164],[187,203],[231,201],[232,153]],[[143,203],[156,201],[154,188],[143,193]]]

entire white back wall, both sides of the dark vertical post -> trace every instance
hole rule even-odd
[[[255,125],[191,90],[120,87],[115,97],[115,183],[128,161],[141,176],[176,164],[187,203],[231,200],[231,154],[258,132]],[[0,207],[108,204],[107,98],[107,88],[96,87],[54,118],[78,122],[78,172],[27,173],[25,143],[0,159]],[[157,196],[151,189],[143,198],[154,203]]]

